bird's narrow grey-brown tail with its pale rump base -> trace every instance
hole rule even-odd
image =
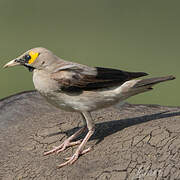
[[[135,79],[130,80],[124,83],[121,86],[121,93],[123,94],[123,99],[127,99],[130,96],[134,96],[136,94],[140,94],[149,90],[152,90],[155,84],[160,82],[169,81],[175,79],[174,76],[164,76],[164,77],[155,77],[148,79]]]

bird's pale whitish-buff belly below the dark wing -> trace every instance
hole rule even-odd
[[[96,91],[86,91],[81,94],[53,92],[42,95],[49,103],[66,111],[93,111],[118,103],[118,98],[115,95],[104,95]]]

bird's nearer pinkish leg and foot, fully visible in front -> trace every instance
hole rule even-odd
[[[84,146],[87,143],[87,141],[90,139],[90,137],[93,135],[94,130],[95,130],[95,125],[92,121],[92,117],[91,114],[89,112],[82,112],[82,115],[84,116],[86,123],[87,123],[87,127],[88,127],[88,133],[86,134],[85,138],[83,139],[83,141],[81,142],[81,144],[79,145],[79,147],[77,148],[76,152],[74,153],[74,155],[70,158],[67,158],[68,161],[60,164],[58,166],[58,168],[61,168],[67,164],[73,164],[80,155],[85,154],[87,152],[89,152],[91,150],[91,148],[87,148],[85,150]]]

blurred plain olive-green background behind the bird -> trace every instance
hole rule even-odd
[[[0,0],[0,66],[42,46],[71,61],[176,80],[129,99],[180,105],[179,0]],[[0,70],[0,99],[34,89],[23,67]]]

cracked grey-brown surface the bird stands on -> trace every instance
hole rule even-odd
[[[77,147],[43,156],[81,127],[78,113],[30,91],[0,100],[0,180],[179,180],[180,108],[131,105],[92,113],[93,150],[56,166]],[[82,135],[83,136],[83,135]]]

